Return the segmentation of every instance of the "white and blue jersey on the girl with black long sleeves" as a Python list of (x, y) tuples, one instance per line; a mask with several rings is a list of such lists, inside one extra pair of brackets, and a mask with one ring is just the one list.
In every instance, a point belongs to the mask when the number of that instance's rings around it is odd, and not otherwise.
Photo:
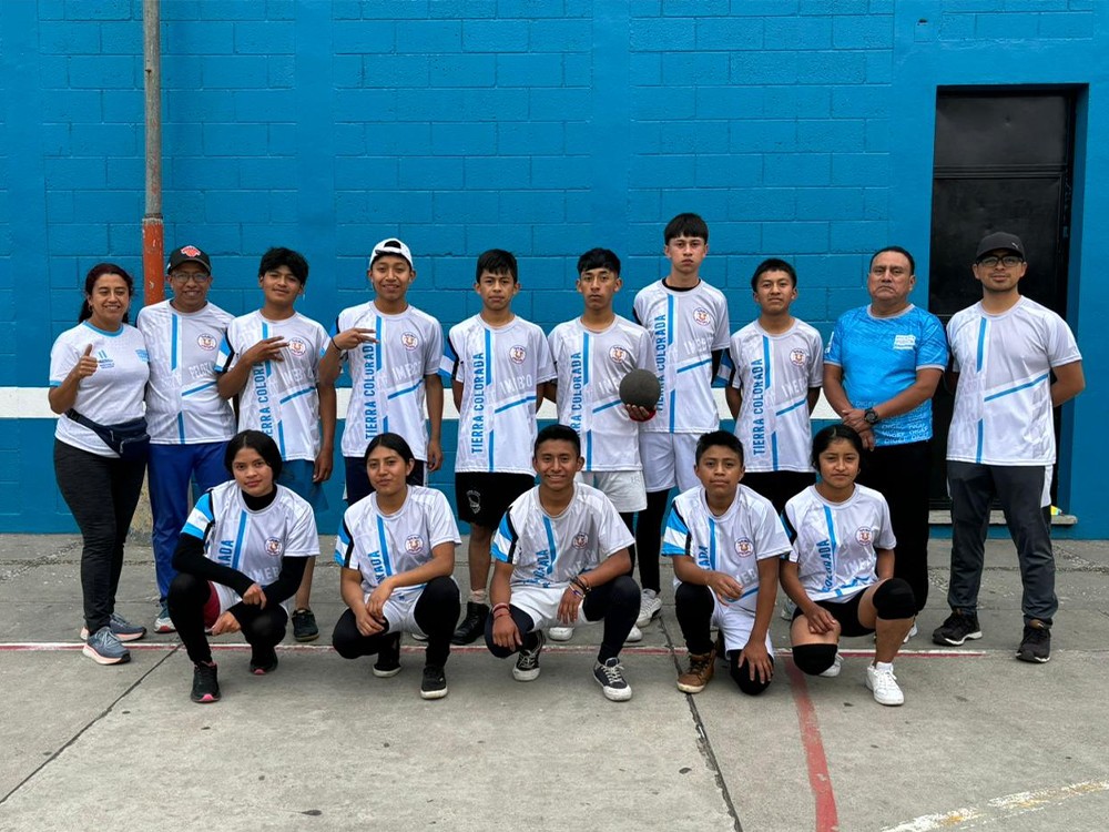
[[(254, 511), (243, 500), (237, 483), (217, 485), (196, 500), (181, 534), (203, 540), (208, 560), (237, 569), (266, 587), (281, 575), (282, 558), (314, 558), (319, 554), (312, 506), (285, 486), (275, 487), (273, 503)], [(242, 600), (231, 587), (213, 586), (221, 611)], [(283, 602), (286, 611), (292, 610), (293, 600)]]

